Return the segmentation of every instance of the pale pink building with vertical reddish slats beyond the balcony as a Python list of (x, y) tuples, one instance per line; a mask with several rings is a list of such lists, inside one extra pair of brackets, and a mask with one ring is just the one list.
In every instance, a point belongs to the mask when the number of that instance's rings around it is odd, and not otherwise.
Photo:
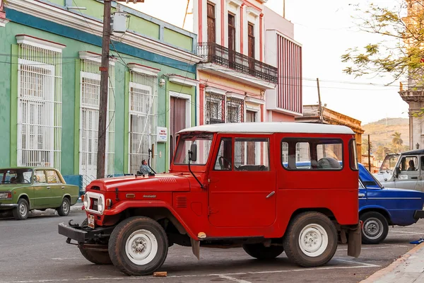
[(268, 121), (294, 122), (302, 116), (302, 46), (293, 23), (264, 7), (265, 62), (278, 68), (277, 87), (266, 91)]

